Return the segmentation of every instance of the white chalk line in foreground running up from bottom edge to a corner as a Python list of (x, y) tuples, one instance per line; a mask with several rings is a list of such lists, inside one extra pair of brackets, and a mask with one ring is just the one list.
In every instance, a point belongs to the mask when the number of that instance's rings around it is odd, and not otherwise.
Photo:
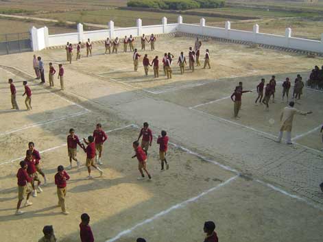
[(119, 232), (119, 234), (117, 234), (112, 239), (108, 239), (106, 242), (114, 242), (114, 241), (117, 241), (118, 239), (120, 239), (121, 237), (123, 237), (125, 234), (130, 234), (136, 228), (139, 228), (139, 227), (145, 225), (146, 223), (150, 223), (150, 222), (158, 219), (159, 217), (163, 217), (164, 215), (167, 215), (168, 213), (171, 213), (171, 211), (173, 211), (173, 210), (176, 210), (178, 208), (182, 208), (184, 206), (187, 206), (188, 204), (190, 204), (192, 202), (195, 202), (196, 200), (200, 199), (201, 197), (204, 197), (205, 195), (208, 195), (208, 193), (211, 193), (211, 192), (213, 192), (213, 191), (221, 188), (222, 186), (226, 186), (226, 184), (229, 184), (230, 182), (232, 182), (233, 180), (237, 179), (238, 177), (239, 176), (233, 176), (232, 178), (229, 178), (225, 182), (222, 182), (221, 184), (218, 184), (217, 186), (214, 186), (213, 188), (208, 189), (208, 190), (200, 193), (199, 195), (197, 195), (195, 197), (191, 197), (191, 198), (185, 200), (184, 202), (180, 202), (179, 204), (176, 204), (174, 206), (171, 206), (170, 208), (167, 208), (166, 210), (163, 210), (163, 211), (161, 211), (159, 213), (156, 213), (156, 215), (154, 215), (152, 217), (149, 217), (149, 219), (145, 219), (144, 221), (141, 221), (140, 223), (137, 223), (132, 228), (128, 228), (128, 230), (123, 230), (122, 232)]

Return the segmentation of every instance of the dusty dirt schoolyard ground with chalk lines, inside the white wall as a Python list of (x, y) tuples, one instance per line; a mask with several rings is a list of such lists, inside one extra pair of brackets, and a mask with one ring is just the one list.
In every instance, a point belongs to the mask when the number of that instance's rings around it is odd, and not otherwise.
[[(307, 80), (309, 70), (320, 58), (294, 53), (254, 49), (244, 45), (202, 40), (202, 55), (210, 49), (210, 70), (197, 67), (180, 75), (174, 64), (173, 78), (163, 69), (145, 77), (143, 66), (133, 71), (132, 53), (104, 55), (95, 44), (93, 56), (68, 64), (64, 49), (37, 52), (45, 66), (53, 62), (65, 69), (66, 90), (39, 85), (32, 80), (32, 54), (20, 53), (0, 59), (1, 145), (6, 147), (0, 162), (0, 226), (3, 241), (37, 241), (43, 226), (52, 224), (58, 241), (80, 241), (80, 215), (91, 216), (95, 241), (202, 241), (203, 223), (214, 220), (221, 241), (320, 241), (323, 234), (322, 147), (320, 91), (304, 89), (296, 102), (300, 110), (312, 110), (307, 117), (295, 117), (295, 145), (274, 142), (279, 130), (281, 82), (297, 73)], [(180, 51), (187, 55), (193, 38), (158, 38), (156, 55)], [(139, 43), (136, 42), (136, 47)], [(122, 48), (121, 48), (122, 49)], [(147, 47), (149, 49), (149, 46)], [(75, 58), (75, 56), (73, 57)], [(141, 59), (142, 60), (142, 59)], [(201, 61), (203, 64), (203, 60)], [(161, 66), (160, 66), (161, 67)], [(48, 68), (45, 69), (45, 77)], [(243, 95), (241, 119), (232, 118), (232, 90), (239, 81), (245, 90), (254, 90), (261, 77), (266, 82), (276, 75), (276, 103), (270, 111), (254, 106), (256, 93)], [(12, 77), (17, 88), (20, 111), (10, 110)], [(33, 110), (24, 110), (23, 80), (32, 88)], [(48, 83), (48, 80), (46, 78)], [(151, 182), (137, 181), (139, 175), (132, 142), (139, 127), (148, 121), (154, 134), (167, 130), (171, 144), (167, 159), (170, 169), (160, 172), (158, 146), (149, 148)], [(86, 180), (84, 166), (67, 170), (67, 208), (56, 207), (53, 176), (58, 165), (67, 167), (66, 136), (75, 128), (79, 137), (88, 136), (96, 123), (108, 132), (104, 145), (104, 176)], [(14, 215), (16, 171), (27, 143), (34, 141), (41, 152), (49, 186), (32, 198), (25, 214)], [(156, 140), (155, 140), (156, 141)], [(77, 157), (84, 165), (85, 155)], [(62, 226), (64, 225), (64, 226)], [(17, 230), (17, 228), (25, 228)], [(26, 232), (27, 231), (27, 232)]]

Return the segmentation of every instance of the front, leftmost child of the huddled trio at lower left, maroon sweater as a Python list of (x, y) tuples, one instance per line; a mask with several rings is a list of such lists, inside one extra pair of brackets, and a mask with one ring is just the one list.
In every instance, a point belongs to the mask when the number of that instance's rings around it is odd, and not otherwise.
[(30, 182), (32, 182), (32, 178), (29, 177), (27, 173), (27, 163), (25, 160), (22, 160), (19, 165), (21, 168), (18, 170), (16, 178), (18, 178), (18, 204), (16, 208), (16, 215), (22, 215), (24, 212), (19, 210), (21, 207), (21, 202), (26, 197), (25, 206), (31, 206), (32, 202), (29, 202), (29, 196), (32, 193), (32, 189), (30, 187)]

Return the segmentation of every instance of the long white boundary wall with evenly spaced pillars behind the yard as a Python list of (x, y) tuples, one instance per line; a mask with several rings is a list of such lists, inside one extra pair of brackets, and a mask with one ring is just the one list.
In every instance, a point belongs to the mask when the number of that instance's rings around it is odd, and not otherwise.
[(231, 29), (230, 22), (226, 22), (225, 27), (206, 26), (205, 19), (200, 20), (200, 25), (182, 23), (182, 16), (178, 16), (178, 23), (167, 23), (167, 18), (163, 17), (161, 25), (142, 26), (141, 19), (137, 19), (136, 27), (115, 28), (113, 21), (109, 22), (109, 29), (95, 31), (83, 31), (83, 25), (77, 25), (77, 32), (68, 34), (48, 34), (48, 28), (43, 27), (30, 29), (32, 36), (32, 47), (34, 51), (39, 51), (47, 47), (65, 45), (67, 42), (76, 44), (79, 41), (84, 43), (88, 38), (92, 41), (105, 40), (109, 38), (123, 38), (123, 36), (138, 37), (142, 34), (169, 34), (182, 32), (199, 36), (209, 36), (214, 38), (224, 38), (228, 40), (241, 40), (248, 43), (271, 45), (287, 49), (297, 49), (314, 53), (323, 53), (323, 34), (321, 41), (309, 40), (305, 38), (291, 37), (291, 28), (287, 28), (285, 36), (275, 34), (263, 34), (259, 32), (259, 25), (254, 25), (252, 31)]

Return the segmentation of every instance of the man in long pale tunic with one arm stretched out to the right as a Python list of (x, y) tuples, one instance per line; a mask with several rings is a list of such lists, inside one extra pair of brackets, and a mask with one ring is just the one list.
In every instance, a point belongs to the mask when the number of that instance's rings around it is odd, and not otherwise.
[(291, 128), (293, 126), (293, 119), (295, 114), (307, 115), (311, 114), (312, 112), (302, 112), (294, 108), (294, 101), (289, 102), (289, 106), (283, 108), (280, 114), (280, 130), (278, 135), (278, 140), (276, 142), (280, 143), (281, 139), (283, 138), (283, 132), (286, 131), (286, 139), (287, 145), (292, 145), (291, 143)]

